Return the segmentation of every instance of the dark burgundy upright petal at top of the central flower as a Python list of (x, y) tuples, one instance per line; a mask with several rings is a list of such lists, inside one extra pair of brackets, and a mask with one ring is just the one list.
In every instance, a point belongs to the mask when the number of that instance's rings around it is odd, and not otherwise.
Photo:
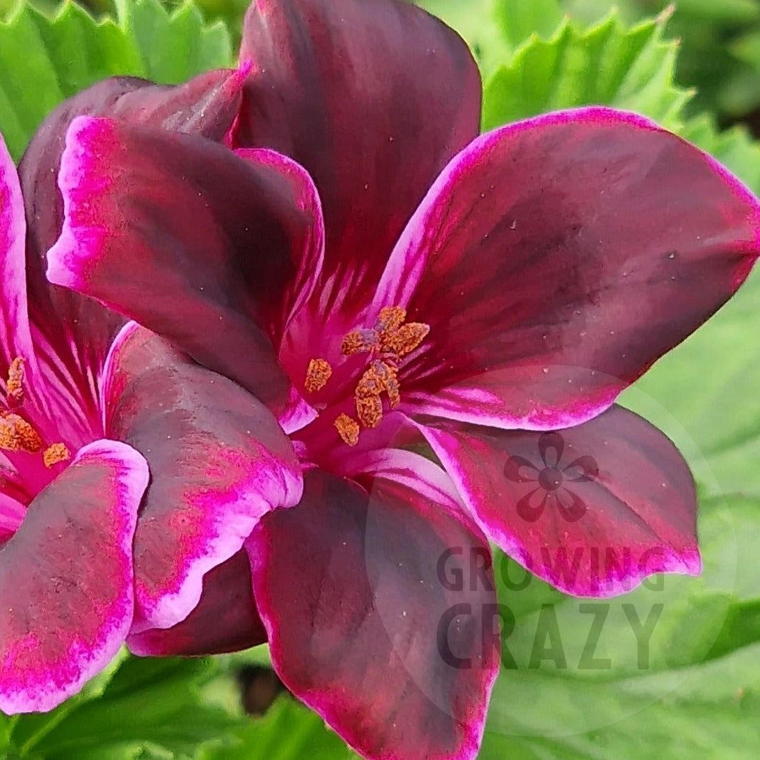
[(451, 29), (398, 0), (254, 2), (235, 142), (305, 166), (325, 207), (318, 308), (372, 297), (404, 225), (446, 162), (478, 133), (480, 75)]

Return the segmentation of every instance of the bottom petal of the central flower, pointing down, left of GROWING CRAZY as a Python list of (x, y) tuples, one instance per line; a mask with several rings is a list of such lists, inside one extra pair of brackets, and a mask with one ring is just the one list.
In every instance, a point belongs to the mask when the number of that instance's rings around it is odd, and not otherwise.
[(474, 758), (499, 667), (490, 551), (401, 480), (368, 493), (312, 470), (302, 502), (258, 525), (272, 663), (365, 757)]

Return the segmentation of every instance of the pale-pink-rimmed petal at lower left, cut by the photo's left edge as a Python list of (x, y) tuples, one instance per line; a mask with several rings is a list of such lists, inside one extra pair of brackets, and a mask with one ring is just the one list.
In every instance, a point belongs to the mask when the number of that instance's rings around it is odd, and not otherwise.
[(0, 549), (0, 710), (46, 711), (124, 643), (144, 459), (97, 441), (30, 504)]

